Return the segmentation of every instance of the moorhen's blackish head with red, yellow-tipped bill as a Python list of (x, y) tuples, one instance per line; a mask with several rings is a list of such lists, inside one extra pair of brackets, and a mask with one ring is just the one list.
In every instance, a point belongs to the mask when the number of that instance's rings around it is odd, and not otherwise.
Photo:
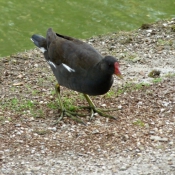
[(112, 57), (112, 56), (106, 56), (103, 59), (103, 63), (101, 65), (101, 68), (104, 71), (107, 71), (109, 74), (115, 74), (117, 75), (119, 78), (123, 79), (123, 76), (119, 70), (119, 62), (116, 58)]

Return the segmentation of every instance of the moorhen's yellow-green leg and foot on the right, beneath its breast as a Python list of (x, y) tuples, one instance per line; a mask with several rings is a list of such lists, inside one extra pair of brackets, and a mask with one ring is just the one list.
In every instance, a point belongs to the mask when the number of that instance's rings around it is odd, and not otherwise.
[(84, 97), (86, 98), (88, 104), (89, 104), (89, 107), (91, 109), (91, 116), (90, 116), (90, 119), (93, 118), (94, 116), (94, 112), (98, 113), (99, 115), (103, 116), (103, 117), (107, 117), (107, 118), (112, 118), (112, 119), (116, 119), (115, 117), (111, 116), (111, 115), (108, 115), (108, 114), (105, 114), (102, 112), (102, 109), (97, 109), (94, 105), (94, 103), (92, 102), (92, 100), (90, 99), (90, 97), (87, 95), (87, 94), (83, 94)]

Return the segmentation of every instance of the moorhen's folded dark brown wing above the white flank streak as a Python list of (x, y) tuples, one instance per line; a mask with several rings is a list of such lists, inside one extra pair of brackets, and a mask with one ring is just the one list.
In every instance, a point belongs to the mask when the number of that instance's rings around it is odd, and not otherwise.
[(51, 61), (68, 65), (73, 69), (89, 69), (103, 58), (93, 47), (78, 39), (47, 32), (48, 54)]

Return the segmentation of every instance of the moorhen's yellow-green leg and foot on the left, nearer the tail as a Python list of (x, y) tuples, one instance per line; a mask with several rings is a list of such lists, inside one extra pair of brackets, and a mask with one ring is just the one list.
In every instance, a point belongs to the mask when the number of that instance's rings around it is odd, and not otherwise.
[(75, 115), (79, 115), (79, 114), (74, 113), (74, 112), (72, 112), (72, 111), (69, 111), (69, 110), (65, 109), (65, 107), (64, 107), (64, 105), (63, 105), (63, 103), (62, 103), (62, 100), (61, 100), (61, 96), (60, 96), (60, 85), (59, 85), (59, 84), (56, 84), (56, 85), (55, 85), (55, 91), (56, 91), (56, 94), (57, 94), (57, 96), (58, 96), (58, 103), (59, 103), (59, 106), (60, 106), (60, 108), (61, 108), (61, 115), (60, 115), (59, 119), (57, 120), (57, 122), (56, 122), (55, 124), (57, 124), (60, 120), (62, 120), (63, 117), (64, 117), (64, 115), (67, 115), (68, 117), (70, 117), (70, 118), (73, 119), (74, 121), (79, 122), (79, 123), (82, 123), (82, 124), (85, 125), (85, 123), (84, 123), (81, 119), (79, 119), (79, 118), (77, 118), (77, 117), (75, 116)]

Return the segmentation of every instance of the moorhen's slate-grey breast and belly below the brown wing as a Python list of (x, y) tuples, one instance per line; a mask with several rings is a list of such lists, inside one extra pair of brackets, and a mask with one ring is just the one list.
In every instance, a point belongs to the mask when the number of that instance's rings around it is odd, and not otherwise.
[(56, 67), (53, 72), (61, 86), (88, 95), (105, 94), (113, 83), (112, 75), (94, 74), (91, 71), (75, 69), (66, 64)]

